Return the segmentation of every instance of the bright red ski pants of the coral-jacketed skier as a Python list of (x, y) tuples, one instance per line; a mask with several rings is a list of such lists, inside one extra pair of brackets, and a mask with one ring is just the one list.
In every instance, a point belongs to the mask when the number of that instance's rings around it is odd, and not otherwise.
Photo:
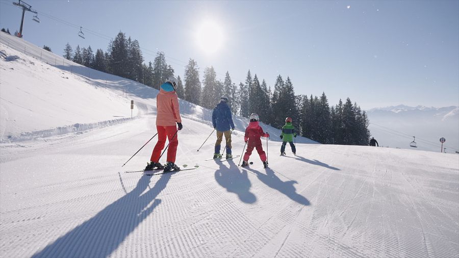
[[(151, 153), (150, 161), (159, 162), (161, 156), (161, 151), (164, 149), (164, 144), (166, 144), (166, 135), (169, 139), (169, 148), (167, 149), (167, 162), (175, 163), (175, 153), (177, 152), (177, 145), (179, 145), (179, 140), (175, 133), (177, 132), (177, 127), (175, 125), (170, 126), (161, 126), (157, 125), (156, 130), (158, 130), (158, 142), (156, 143), (153, 153)], [(175, 135), (175, 137), (174, 137)], [(174, 137), (174, 139), (172, 139)]]

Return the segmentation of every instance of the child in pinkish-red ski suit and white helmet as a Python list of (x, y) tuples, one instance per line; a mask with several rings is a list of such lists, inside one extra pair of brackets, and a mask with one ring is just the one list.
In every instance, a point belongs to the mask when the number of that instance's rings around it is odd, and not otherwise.
[(266, 153), (263, 150), (263, 145), (260, 137), (269, 137), (268, 133), (263, 132), (262, 127), (258, 123), (259, 117), (257, 114), (253, 113), (250, 115), (250, 123), (245, 129), (244, 141), (247, 143), (247, 150), (244, 154), (244, 161), (242, 166), (248, 165), (248, 159), (250, 154), (252, 154), (253, 148), (257, 148), (257, 152), (260, 155), (260, 159), (263, 161), (263, 165), (266, 167), (268, 165)]

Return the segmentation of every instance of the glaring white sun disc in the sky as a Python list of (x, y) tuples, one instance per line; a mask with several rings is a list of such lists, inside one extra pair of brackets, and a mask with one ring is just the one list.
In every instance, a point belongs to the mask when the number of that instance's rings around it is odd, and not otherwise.
[(196, 39), (199, 47), (207, 54), (218, 51), (223, 44), (223, 33), (214, 21), (202, 22), (197, 30)]

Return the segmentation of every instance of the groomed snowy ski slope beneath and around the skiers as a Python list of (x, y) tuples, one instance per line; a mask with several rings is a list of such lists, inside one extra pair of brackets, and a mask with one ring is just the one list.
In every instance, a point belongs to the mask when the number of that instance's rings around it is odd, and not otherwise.
[[(85, 79), (1, 36), (1, 257), (459, 256), (456, 154), (298, 137), (298, 156), (287, 147), (280, 157), (279, 131), (262, 124), (270, 166), (254, 152), (241, 168), (205, 161), (215, 135), (196, 151), (211, 111), (181, 101), (177, 163), (198, 169), (124, 173), (149, 160), (156, 139), (121, 167), (156, 133), (157, 91), (109, 74)], [(235, 122), (241, 154), (248, 121)]]

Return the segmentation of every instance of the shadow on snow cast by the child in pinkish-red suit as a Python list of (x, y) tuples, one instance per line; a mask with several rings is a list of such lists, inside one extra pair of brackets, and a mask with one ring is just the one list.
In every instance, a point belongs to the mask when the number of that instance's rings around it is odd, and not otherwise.
[(260, 179), (261, 182), (265, 183), (265, 185), (271, 187), (272, 189), (276, 189), (277, 191), (287, 195), (293, 201), (296, 201), (302, 205), (311, 204), (306, 197), (296, 193), (296, 189), (293, 186), (293, 184), (298, 184), (298, 182), (296, 182), (295, 180), (284, 182), (279, 177), (277, 177), (274, 174), (274, 171), (270, 168), (264, 168), (266, 171), (266, 174), (263, 174), (260, 171), (257, 171), (257, 170), (254, 170), (248, 167), (244, 167), (244, 169), (247, 169), (255, 173), (258, 179)]

